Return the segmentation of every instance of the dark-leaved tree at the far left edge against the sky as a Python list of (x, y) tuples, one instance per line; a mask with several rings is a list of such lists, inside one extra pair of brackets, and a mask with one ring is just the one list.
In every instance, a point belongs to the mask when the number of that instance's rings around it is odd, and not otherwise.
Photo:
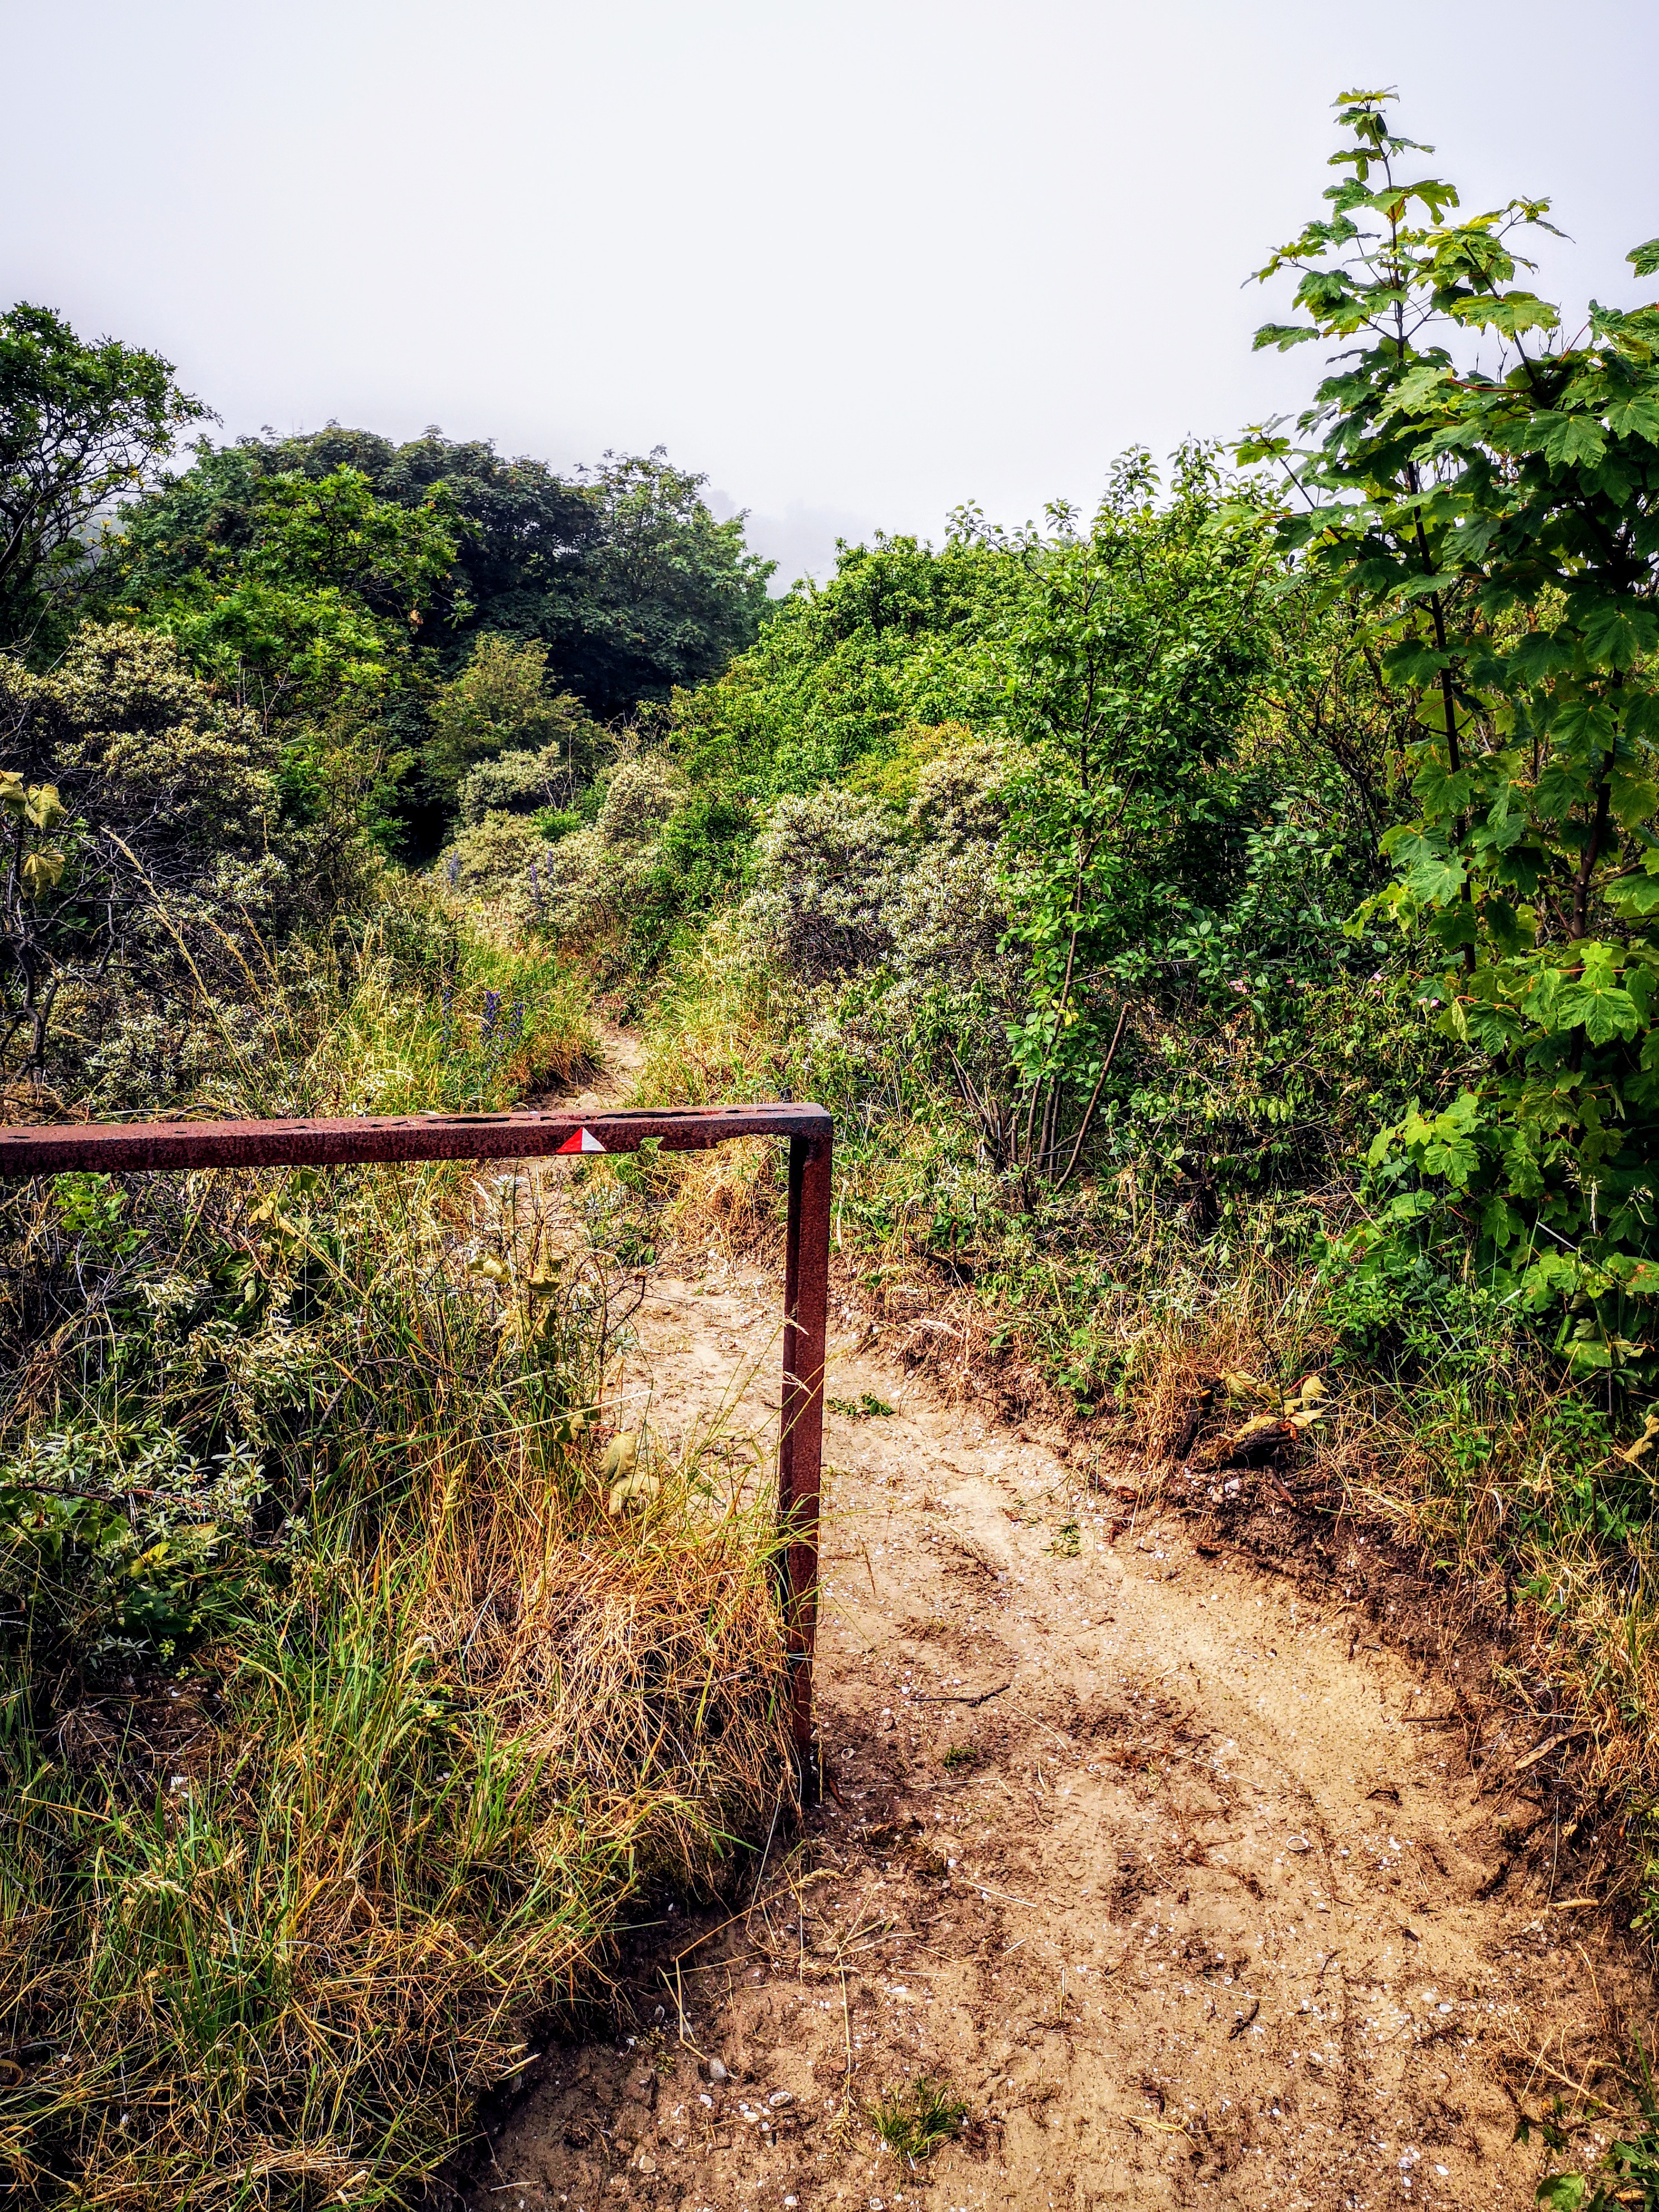
[(206, 414), (159, 354), (86, 345), (27, 301), (0, 316), (0, 646), (38, 635), (86, 568), (97, 515), (144, 489)]

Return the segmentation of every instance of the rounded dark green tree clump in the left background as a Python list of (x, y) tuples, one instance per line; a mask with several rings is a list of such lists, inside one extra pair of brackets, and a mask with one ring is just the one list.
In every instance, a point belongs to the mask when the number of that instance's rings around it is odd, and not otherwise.
[[(661, 706), (754, 639), (770, 564), (701, 482), (661, 451), (562, 478), (438, 431), (201, 440), (122, 513), (88, 604), (283, 717), (296, 801), (356, 781), (380, 843), (420, 854), (469, 768)], [(595, 761), (588, 732), (566, 799)]]

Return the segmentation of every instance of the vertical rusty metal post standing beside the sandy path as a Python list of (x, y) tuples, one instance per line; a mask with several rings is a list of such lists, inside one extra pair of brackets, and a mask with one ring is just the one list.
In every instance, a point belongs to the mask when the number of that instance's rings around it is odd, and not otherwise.
[(783, 1427), (779, 1433), (779, 1571), (801, 1803), (818, 1801), (812, 1741), (812, 1646), (818, 1628), (818, 1475), (830, 1323), (830, 1170), (834, 1133), (790, 1137), (790, 1243), (783, 1263)]

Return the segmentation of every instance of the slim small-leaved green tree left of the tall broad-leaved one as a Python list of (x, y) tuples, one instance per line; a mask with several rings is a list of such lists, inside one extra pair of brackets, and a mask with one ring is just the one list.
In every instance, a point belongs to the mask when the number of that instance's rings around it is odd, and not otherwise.
[[(1239, 956), (1217, 929), (1245, 874), (1241, 730), (1267, 659), (1267, 549), (1245, 513), (1219, 526), (1212, 456), (1117, 462), (1086, 531), (1055, 509), (1037, 586), (998, 648), (1018, 741), (1006, 900), (1026, 962), (1009, 1044), (1020, 1110), (1006, 1150), (1071, 1177), (1113, 1068), (1128, 993)], [(1252, 803), (1254, 799), (1254, 803)]]

